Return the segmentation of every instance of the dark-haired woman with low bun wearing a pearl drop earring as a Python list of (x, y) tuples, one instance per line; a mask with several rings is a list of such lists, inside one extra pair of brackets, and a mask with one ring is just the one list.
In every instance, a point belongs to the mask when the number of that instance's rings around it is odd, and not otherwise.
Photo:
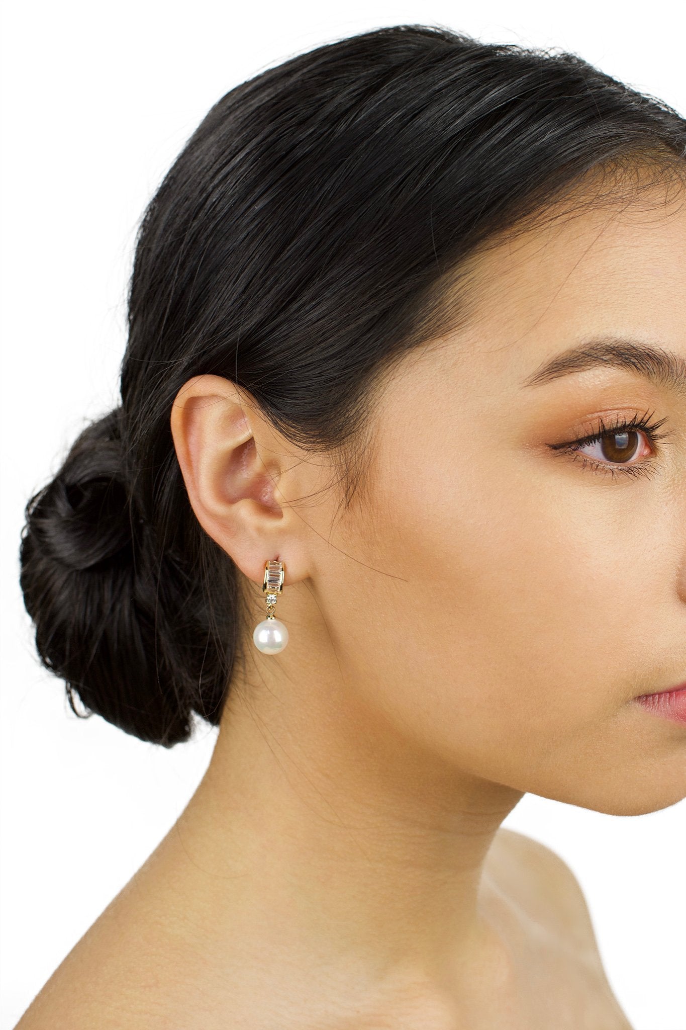
[(210, 110), (21, 558), (72, 707), (219, 733), (22, 1030), (628, 1027), (501, 823), (686, 795), (685, 152), (575, 55), (423, 26)]

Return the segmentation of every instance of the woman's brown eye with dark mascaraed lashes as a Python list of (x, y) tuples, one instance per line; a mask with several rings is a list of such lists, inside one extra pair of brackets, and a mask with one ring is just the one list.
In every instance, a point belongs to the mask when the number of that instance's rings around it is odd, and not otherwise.
[(652, 456), (646, 456), (646, 441), (652, 449), (658, 440), (664, 440), (670, 433), (657, 433), (666, 419), (650, 422), (651, 415), (636, 415), (631, 419), (620, 417), (615, 424), (606, 425), (600, 419), (598, 433), (579, 437), (564, 444), (551, 444), (552, 450), (571, 453), (582, 461), (583, 468), (590, 468), (603, 474), (649, 475), (653, 465)]

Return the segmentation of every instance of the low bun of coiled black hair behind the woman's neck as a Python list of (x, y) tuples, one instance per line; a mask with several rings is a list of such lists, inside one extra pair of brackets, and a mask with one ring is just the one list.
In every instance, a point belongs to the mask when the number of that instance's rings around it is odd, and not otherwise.
[(218, 720), (222, 655), (184, 554), (159, 547), (132, 493), (122, 438), (116, 408), (83, 430), (31, 497), (20, 582), (39, 658), (65, 680), (74, 714), (172, 747), (190, 736), (193, 710)]

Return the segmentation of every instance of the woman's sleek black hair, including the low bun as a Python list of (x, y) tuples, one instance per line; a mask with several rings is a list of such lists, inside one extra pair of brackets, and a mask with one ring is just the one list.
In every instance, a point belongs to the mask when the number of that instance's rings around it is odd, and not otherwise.
[(467, 259), (584, 182), (600, 204), (639, 170), (681, 181), (685, 158), (683, 117), (577, 55), (437, 26), (319, 46), (217, 101), (139, 227), (121, 404), (26, 507), (26, 609), (72, 710), (76, 691), (171, 747), (192, 713), (218, 724), (250, 636), (176, 457), (186, 380), (234, 381), (287, 440), (329, 452), (348, 507), (375, 388), (466, 317)]

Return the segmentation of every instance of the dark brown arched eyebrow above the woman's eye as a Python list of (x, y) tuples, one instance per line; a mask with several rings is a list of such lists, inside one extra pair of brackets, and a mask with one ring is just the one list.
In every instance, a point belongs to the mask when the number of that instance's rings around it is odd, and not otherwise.
[(686, 358), (671, 350), (639, 340), (605, 336), (585, 340), (555, 354), (528, 376), (520, 385), (540, 386), (574, 372), (610, 366), (638, 373), (658, 386), (686, 394)]

